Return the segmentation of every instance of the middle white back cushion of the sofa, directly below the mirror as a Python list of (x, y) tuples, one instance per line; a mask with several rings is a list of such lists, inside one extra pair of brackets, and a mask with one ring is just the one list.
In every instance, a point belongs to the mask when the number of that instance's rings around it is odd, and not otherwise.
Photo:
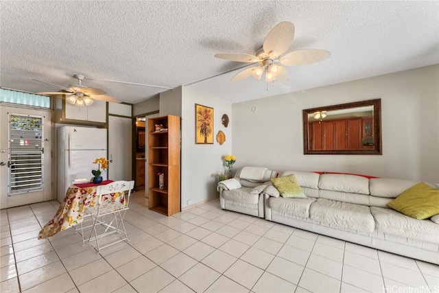
[(352, 194), (369, 194), (369, 179), (356, 175), (322, 174), (318, 181), (318, 187)]

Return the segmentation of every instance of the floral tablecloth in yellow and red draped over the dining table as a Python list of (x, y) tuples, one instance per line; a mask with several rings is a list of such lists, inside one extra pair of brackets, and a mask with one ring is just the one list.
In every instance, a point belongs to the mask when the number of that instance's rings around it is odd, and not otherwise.
[[(96, 194), (97, 185), (92, 187), (78, 187), (72, 185), (67, 189), (66, 197), (61, 202), (60, 208), (52, 220), (50, 220), (38, 234), (38, 239), (51, 237), (56, 233), (80, 224), (82, 215), (87, 207), (94, 207), (99, 196)], [(106, 194), (102, 196), (102, 201), (120, 200), (125, 202), (124, 194)]]

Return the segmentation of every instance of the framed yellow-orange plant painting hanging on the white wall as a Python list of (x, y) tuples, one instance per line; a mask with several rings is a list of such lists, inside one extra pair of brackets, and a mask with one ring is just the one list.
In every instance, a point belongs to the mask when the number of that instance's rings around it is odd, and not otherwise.
[(213, 144), (213, 108), (195, 104), (195, 143)]

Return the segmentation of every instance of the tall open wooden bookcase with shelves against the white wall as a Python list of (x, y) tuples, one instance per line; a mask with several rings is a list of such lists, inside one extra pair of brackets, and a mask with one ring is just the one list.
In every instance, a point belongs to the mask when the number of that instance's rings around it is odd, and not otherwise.
[[(162, 125), (166, 130), (156, 130)], [(180, 211), (180, 117), (168, 115), (148, 119), (148, 207), (173, 215)], [(163, 174), (163, 188), (158, 174)]]

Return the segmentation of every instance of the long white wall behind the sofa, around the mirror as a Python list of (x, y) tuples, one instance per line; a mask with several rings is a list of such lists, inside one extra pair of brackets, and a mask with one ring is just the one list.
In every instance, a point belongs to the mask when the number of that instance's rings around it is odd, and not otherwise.
[[(439, 65), (433, 65), (233, 104), (235, 166), (351, 172), (438, 183), (438, 82)], [(376, 98), (381, 98), (381, 156), (303, 154), (303, 109)], [(254, 106), (256, 112), (251, 111)]]

